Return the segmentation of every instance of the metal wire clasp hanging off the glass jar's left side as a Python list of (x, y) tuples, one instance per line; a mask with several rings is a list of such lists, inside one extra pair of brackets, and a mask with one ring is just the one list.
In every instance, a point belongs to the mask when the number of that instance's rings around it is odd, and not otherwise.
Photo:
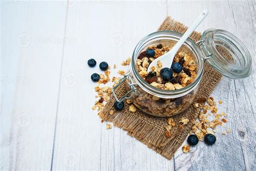
[[(116, 99), (117, 102), (122, 102), (126, 99), (130, 99), (136, 92), (137, 92), (137, 88), (135, 87), (135, 85), (138, 85), (137, 83), (133, 83), (131, 77), (130, 77), (130, 73), (125, 74), (125, 76), (119, 80), (118, 84), (116, 86), (113, 87), (112, 89), (112, 93), (114, 96), (114, 99)], [(116, 93), (114, 93), (114, 91), (116, 90), (116, 88), (122, 84), (125, 80), (129, 80), (129, 82), (127, 83), (127, 85), (131, 88), (131, 90), (129, 92), (127, 92), (126, 94), (123, 95), (123, 97), (120, 98), (120, 100), (117, 98)], [(131, 93), (131, 94), (130, 94)], [(128, 96), (130, 94), (130, 96)]]

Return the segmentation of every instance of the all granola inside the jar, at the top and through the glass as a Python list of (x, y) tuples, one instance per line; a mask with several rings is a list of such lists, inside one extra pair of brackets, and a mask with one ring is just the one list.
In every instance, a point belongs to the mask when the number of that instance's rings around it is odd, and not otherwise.
[[(150, 63), (171, 48), (167, 45), (159, 44), (157, 46), (149, 46), (147, 49), (154, 50), (154, 57), (147, 57), (146, 51), (143, 51), (136, 60), (136, 66), (140, 77), (151, 86), (161, 90), (173, 91), (184, 88), (197, 78), (196, 62), (190, 54), (183, 51), (177, 52), (173, 60), (173, 63), (180, 63), (180, 65), (183, 66), (183, 70), (180, 73), (173, 72), (173, 77), (170, 81), (164, 81), (160, 77), (160, 71), (163, 67), (160, 61), (158, 61), (157, 66), (151, 67), (151, 71), (148, 72), (147, 68)], [(197, 90), (198, 87), (183, 97), (163, 99), (156, 95), (151, 95), (142, 90), (142, 88), (137, 87), (137, 92), (132, 97), (132, 102), (145, 113), (155, 115), (156, 117), (170, 117), (185, 111), (192, 104), (196, 97)]]

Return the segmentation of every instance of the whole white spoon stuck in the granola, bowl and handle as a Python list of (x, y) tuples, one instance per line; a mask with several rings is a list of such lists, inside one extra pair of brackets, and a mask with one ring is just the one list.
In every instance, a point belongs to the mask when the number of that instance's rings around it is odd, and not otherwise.
[(204, 9), (197, 20), (190, 26), (190, 28), (187, 29), (187, 31), (184, 33), (184, 35), (179, 39), (179, 41), (172, 47), (172, 49), (160, 56), (159, 58), (152, 61), (152, 63), (147, 68), (147, 71), (151, 71), (152, 66), (157, 66), (157, 61), (160, 60), (163, 68), (168, 67), (170, 68), (172, 65), (173, 58), (175, 54), (178, 52), (179, 48), (183, 45), (183, 43), (186, 41), (188, 37), (190, 37), (191, 33), (197, 28), (197, 26), (205, 19), (205, 17), (208, 14), (208, 10)]

